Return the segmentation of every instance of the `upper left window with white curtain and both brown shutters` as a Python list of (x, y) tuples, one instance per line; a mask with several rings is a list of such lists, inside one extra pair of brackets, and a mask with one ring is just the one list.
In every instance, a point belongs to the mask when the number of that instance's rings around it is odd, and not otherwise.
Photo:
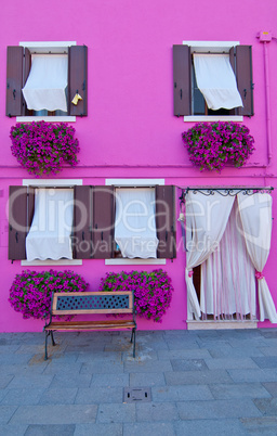
[(70, 121), (88, 115), (87, 46), (69, 41), (8, 47), (6, 115), (26, 120), (65, 116)]

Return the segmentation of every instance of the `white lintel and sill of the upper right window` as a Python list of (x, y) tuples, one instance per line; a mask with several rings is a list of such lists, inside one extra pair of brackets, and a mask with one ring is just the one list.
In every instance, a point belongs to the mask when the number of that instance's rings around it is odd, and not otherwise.
[[(213, 52), (226, 53), (232, 49), (232, 47), (239, 46), (239, 41), (183, 41), (183, 44), (189, 46), (192, 52)], [(185, 115), (185, 123), (199, 123), (199, 121), (243, 121), (242, 115)]]

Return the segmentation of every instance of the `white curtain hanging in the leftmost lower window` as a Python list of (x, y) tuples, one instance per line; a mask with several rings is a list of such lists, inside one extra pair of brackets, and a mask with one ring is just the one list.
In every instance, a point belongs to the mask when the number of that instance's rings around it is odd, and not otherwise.
[(72, 259), (72, 189), (36, 189), (35, 213), (26, 238), (27, 260)]

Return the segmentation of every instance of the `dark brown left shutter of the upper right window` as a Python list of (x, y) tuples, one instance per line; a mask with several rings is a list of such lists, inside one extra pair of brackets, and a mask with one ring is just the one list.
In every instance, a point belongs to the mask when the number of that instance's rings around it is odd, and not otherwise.
[(174, 115), (192, 114), (190, 47), (173, 46)]

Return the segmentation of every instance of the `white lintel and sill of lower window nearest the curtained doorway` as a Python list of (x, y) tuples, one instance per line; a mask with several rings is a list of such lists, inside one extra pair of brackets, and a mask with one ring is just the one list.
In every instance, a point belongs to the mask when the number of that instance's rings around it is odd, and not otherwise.
[[(164, 179), (106, 179), (107, 187), (116, 188), (137, 188), (137, 187), (155, 187), (156, 184), (164, 184)], [(105, 259), (105, 265), (166, 265), (167, 259)]]

